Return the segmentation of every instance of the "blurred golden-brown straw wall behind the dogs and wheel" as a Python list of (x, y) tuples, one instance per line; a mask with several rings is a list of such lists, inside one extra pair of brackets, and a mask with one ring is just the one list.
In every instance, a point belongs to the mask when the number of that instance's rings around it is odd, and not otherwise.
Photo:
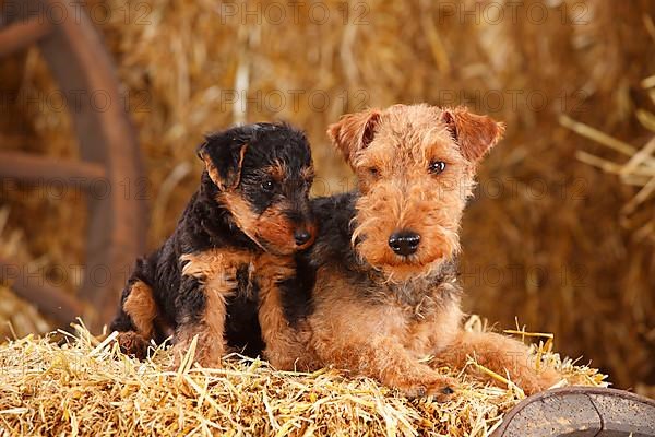
[[(355, 24), (352, 15), (348, 25), (335, 12), (343, 8), (337, 1), (322, 2), (332, 11), (324, 24), (308, 20), (308, 5), (300, 8), (297, 25), (253, 19), (242, 24), (234, 17), (222, 24), (221, 3), (210, 0), (102, 3), (114, 13), (104, 19), (96, 10), (98, 28), (118, 64), (145, 155), (150, 247), (170, 233), (196, 186), (201, 167), (194, 147), (203, 132), (241, 120), (301, 126), (313, 144), (315, 191), (326, 193), (353, 184), (324, 134), (342, 113), (465, 98), (509, 127), (483, 166), (477, 199), (465, 215), (466, 310), (502, 327), (514, 326), (517, 317), (533, 329), (555, 332), (558, 351), (593, 359), (618, 387), (654, 386), (655, 233), (635, 229), (653, 223), (655, 202), (623, 216), (621, 205), (636, 189), (577, 161), (579, 150), (608, 152), (561, 127), (558, 116), (565, 113), (627, 142), (645, 143), (652, 132), (635, 120), (634, 109), (654, 106), (641, 81), (655, 74), (655, 33), (645, 24), (655, 17), (655, 5), (647, 0), (548, 1), (548, 20), (531, 23), (524, 16), (533, 3), (517, 10), (516, 23), (509, 17), (476, 23), (472, 16), (440, 17), (439, 5), (429, 0), (372, 1), (367, 23)], [(572, 23), (579, 3), (586, 8), (586, 23)], [(145, 10), (136, 9), (143, 4)], [(357, 4), (350, 3), (352, 11), (359, 12)], [(300, 98), (297, 108), (287, 102), (279, 110), (276, 103), (251, 104), (245, 113), (222, 107), (219, 91), (236, 88), (245, 71), (251, 95), (279, 90), (288, 98), (289, 90), (322, 91), (330, 105), (312, 108)], [(29, 103), (55, 90), (35, 50), (3, 60), (0, 87), (33, 97), (4, 103), (3, 149), (25, 147), (12, 139), (26, 134), (31, 150), (75, 155), (66, 113)], [(457, 102), (445, 99), (444, 90)], [(536, 110), (521, 98), (513, 105), (509, 93), (515, 90), (545, 95), (548, 105)], [(497, 107), (498, 91), (504, 104)], [(44, 190), (2, 185), (8, 220), (1, 250), (45, 271), (80, 264), (81, 194), (58, 199)], [(0, 317), (13, 321), (17, 334), (43, 330), (25, 303), (9, 297), (5, 288), (0, 293)]]

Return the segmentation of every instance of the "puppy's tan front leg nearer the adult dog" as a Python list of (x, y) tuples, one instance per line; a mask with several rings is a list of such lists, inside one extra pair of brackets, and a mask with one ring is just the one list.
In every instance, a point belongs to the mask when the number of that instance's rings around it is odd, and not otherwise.
[(299, 306), (306, 299), (294, 267), (289, 257), (269, 253), (262, 255), (255, 265), (260, 285), (258, 317), (266, 344), (264, 356), (277, 369), (312, 370), (318, 365), (309, 351), (309, 326), (306, 320), (288, 320), (284, 310), (283, 287), (294, 294), (288, 298)]

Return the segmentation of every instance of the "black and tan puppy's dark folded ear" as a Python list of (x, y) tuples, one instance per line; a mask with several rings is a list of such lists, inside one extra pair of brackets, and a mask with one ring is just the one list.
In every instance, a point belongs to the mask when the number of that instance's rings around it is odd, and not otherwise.
[(231, 189), (241, 180), (241, 167), (248, 143), (231, 130), (213, 133), (198, 147), (200, 157), (212, 181), (222, 190)]

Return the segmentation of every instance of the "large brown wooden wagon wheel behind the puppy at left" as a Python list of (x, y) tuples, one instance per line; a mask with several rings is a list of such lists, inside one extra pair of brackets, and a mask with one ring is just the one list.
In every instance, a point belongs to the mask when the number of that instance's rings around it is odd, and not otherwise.
[[(85, 188), (104, 182), (108, 192), (86, 196), (86, 263), (75, 296), (52, 286), (32, 285), (10, 260), (0, 260), (0, 268), (19, 271), (13, 290), (44, 315), (61, 324), (84, 315), (90, 327), (97, 329), (114, 314), (126, 269), (144, 247), (144, 202), (133, 189), (124, 189), (144, 181), (136, 135), (120, 101), (110, 57), (79, 4), (72, 0), (25, 0), (1, 11), (0, 57), (38, 46), (68, 107), (74, 103), (75, 110), (70, 113), (82, 161), (0, 151), (0, 177), (25, 182), (63, 180)], [(102, 93), (109, 104), (98, 110), (91, 99), (79, 98), (80, 91), (86, 95)], [(98, 272), (104, 276), (98, 277)]]

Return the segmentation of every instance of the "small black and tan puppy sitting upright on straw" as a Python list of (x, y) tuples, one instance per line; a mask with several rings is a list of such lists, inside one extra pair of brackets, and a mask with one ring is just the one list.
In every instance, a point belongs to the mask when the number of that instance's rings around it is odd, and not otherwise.
[[(275, 344), (284, 333), (278, 305), (259, 290), (275, 290), (293, 253), (313, 241), (313, 169), (305, 134), (286, 125), (211, 134), (198, 155), (205, 164), (200, 189), (174, 234), (138, 261), (110, 328), (138, 356), (172, 331), (179, 359), (198, 335), (196, 359), (216, 367), (228, 346), (255, 355), (262, 335)], [(275, 338), (260, 331), (258, 306)]]

